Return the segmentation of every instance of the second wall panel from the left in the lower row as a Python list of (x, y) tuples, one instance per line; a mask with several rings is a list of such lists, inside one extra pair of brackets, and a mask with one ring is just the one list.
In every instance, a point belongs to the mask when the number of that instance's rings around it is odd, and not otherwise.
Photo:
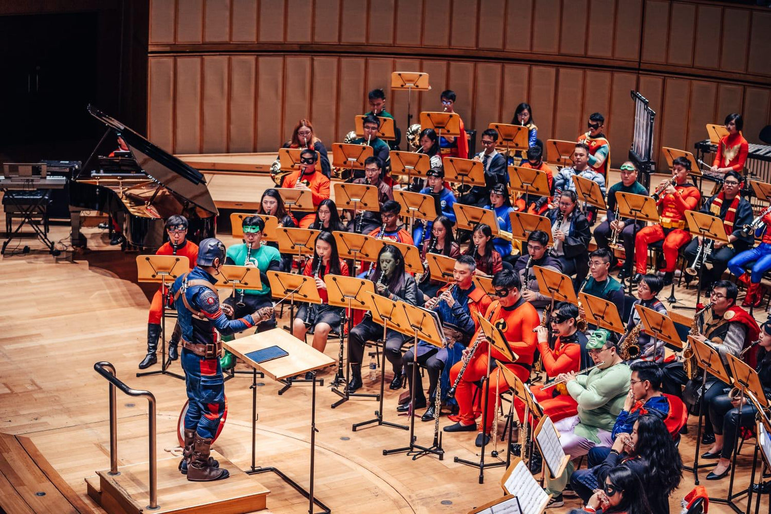
[(174, 152), (200, 152), (200, 57), (177, 59), (174, 96)]

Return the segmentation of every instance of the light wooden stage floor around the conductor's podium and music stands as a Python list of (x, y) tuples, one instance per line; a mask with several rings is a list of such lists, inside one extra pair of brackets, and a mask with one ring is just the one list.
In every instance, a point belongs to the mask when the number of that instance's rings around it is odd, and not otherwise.
[[(66, 237), (68, 230), (53, 226), (52, 239)], [(148, 297), (154, 288), (136, 284), (134, 254), (109, 247), (106, 233), (95, 227), (84, 228), (84, 233), (90, 250), (76, 254), (72, 261), (36, 253), (41, 245), (34, 239), (28, 243), (32, 253), (0, 259), (0, 288), (5, 295), (5, 312), (0, 317), (0, 432), (31, 438), (79, 496), (101, 512), (86, 496), (83, 481), (109, 467), (107, 384), (93, 371), (94, 363), (112, 362), (128, 385), (156, 395), (159, 459), (177, 447), (174, 431), (186, 397), (183, 382), (175, 378), (134, 375), (145, 353)], [(686, 304), (693, 304), (692, 291), (680, 288), (676, 293)], [(763, 321), (766, 314), (761, 311), (758, 316)], [(338, 345), (328, 344), (327, 353), (336, 358)], [(171, 369), (180, 372), (179, 361)], [(443, 461), (384, 456), (383, 449), (406, 445), (408, 432), (377, 426), (352, 432), (352, 423), (373, 417), (376, 403), (352, 400), (333, 410), (329, 405), (338, 396), (328, 388), (332, 370), (321, 376), (325, 385), (318, 388), (315, 493), (332, 512), (358, 513), (362, 507), (369, 512), (467, 512), (501, 495), (503, 468), (487, 469), (480, 485), (477, 469), (453, 463), (456, 455), (475, 458), (475, 433), (445, 434)], [(251, 460), (250, 384), (251, 378), (245, 376), (227, 382), (227, 423), (215, 444), (241, 469), (247, 469)], [(374, 392), (377, 384), (368, 383), (365, 391)], [(282, 396), (277, 395), (278, 388), (267, 378), (259, 380), (257, 462), (277, 466), (307, 487), (311, 388), (295, 385)], [(396, 415), (397, 396), (386, 388), (385, 419), (406, 423), (405, 417)], [(119, 463), (145, 461), (146, 405), (120, 392), (117, 399)], [(440, 421), (442, 426), (449, 423), (446, 418)], [(686, 462), (693, 460), (694, 421), (691, 418), (690, 435), (680, 445)], [(416, 428), (419, 444), (430, 444), (433, 423), (418, 420)], [(499, 448), (503, 451), (505, 445), (499, 443)], [(752, 442), (739, 456), (739, 489), (749, 482), (751, 457)], [(701, 472), (702, 485), (711, 496), (724, 496), (728, 480), (706, 482), (707, 472)], [(271, 489), (271, 512), (307, 512), (306, 500), (275, 475), (261, 475), (260, 481)], [(680, 499), (692, 486), (692, 474), (686, 472), (672, 496), (672, 512), (679, 512)], [(744, 502), (738, 503), (743, 509)], [(578, 504), (569, 500), (565, 507), (550, 512), (567, 512)], [(710, 512), (731, 511), (711, 505)]]

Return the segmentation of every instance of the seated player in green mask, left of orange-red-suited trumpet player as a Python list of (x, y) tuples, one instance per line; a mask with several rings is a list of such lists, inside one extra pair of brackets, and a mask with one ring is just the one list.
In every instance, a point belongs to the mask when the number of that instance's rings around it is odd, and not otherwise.
[[(621, 182), (614, 183), (608, 190), (608, 219), (599, 224), (594, 229), (594, 240), (600, 248), (608, 248), (613, 251), (609, 243), (615, 230), (621, 230), (618, 239), (624, 244), (624, 267), (618, 274), (618, 278), (631, 277), (631, 264), (635, 255), (635, 233), (642, 227), (645, 227), (645, 221), (638, 221), (635, 227), (635, 220), (632, 218), (616, 218), (616, 193), (632, 193), (648, 197), (648, 190), (637, 181), (637, 166), (631, 161), (621, 164)], [(615, 263), (614, 258), (614, 263)]]

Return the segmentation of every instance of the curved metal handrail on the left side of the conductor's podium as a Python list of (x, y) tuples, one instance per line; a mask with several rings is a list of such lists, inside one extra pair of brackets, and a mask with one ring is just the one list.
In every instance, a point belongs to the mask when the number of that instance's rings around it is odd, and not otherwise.
[(157, 465), (156, 465), (156, 401), (155, 396), (150, 391), (143, 391), (141, 389), (133, 389), (128, 385), (120, 381), (115, 375), (115, 366), (107, 361), (97, 362), (94, 365), (94, 369), (99, 375), (109, 381), (109, 474), (118, 474), (118, 437), (117, 437), (117, 416), (116, 416), (116, 401), (115, 401), (115, 388), (119, 388), (121, 391), (129, 396), (141, 396), (147, 398), (147, 421), (150, 432), (150, 459), (148, 466), (150, 468), (150, 505), (148, 509), (158, 508), (158, 492), (157, 492)]

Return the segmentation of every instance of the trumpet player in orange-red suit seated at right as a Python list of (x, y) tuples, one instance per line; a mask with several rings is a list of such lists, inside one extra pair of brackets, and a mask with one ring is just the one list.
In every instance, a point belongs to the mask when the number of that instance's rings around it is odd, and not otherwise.
[(661, 214), (661, 223), (648, 225), (638, 230), (635, 237), (635, 267), (637, 273), (632, 281), (637, 284), (645, 274), (645, 264), (648, 261), (648, 245), (656, 241), (664, 240), (664, 259), (666, 260), (664, 285), (672, 284), (677, 266), (677, 254), (680, 247), (688, 244), (691, 234), (685, 230), (685, 211), (695, 210), (699, 205), (702, 194), (699, 189), (688, 183), (688, 174), (691, 172), (691, 161), (685, 157), (677, 157), (672, 161), (672, 179), (661, 183), (659, 189), (666, 186), (657, 200), (658, 212)]

